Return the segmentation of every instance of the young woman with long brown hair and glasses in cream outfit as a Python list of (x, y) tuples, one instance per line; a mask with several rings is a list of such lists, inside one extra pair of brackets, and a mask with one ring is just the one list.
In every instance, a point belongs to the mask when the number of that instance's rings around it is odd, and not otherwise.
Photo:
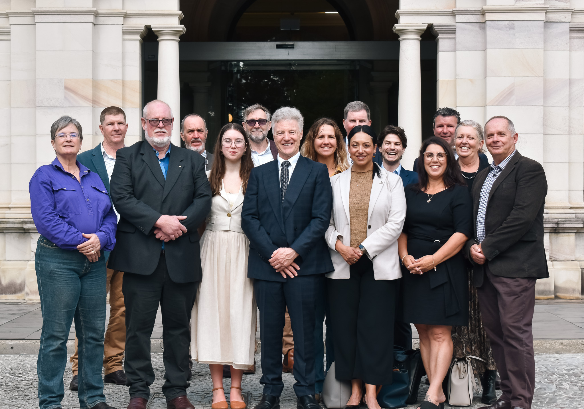
[(207, 171), (213, 198), (201, 237), (203, 279), (191, 314), (191, 349), (193, 359), (209, 364), (211, 408), (228, 408), (223, 365), (230, 365), (231, 409), (244, 409), (241, 379), (253, 365), (256, 303), (253, 280), (247, 278), (249, 241), (241, 228), (241, 209), (253, 168), (243, 127), (225, 125), (214, 153), (213, 166)]

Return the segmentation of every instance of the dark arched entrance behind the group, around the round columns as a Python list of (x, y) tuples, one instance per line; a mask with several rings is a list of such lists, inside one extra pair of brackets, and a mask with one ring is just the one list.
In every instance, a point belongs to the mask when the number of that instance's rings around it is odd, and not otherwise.
[[(207, 147), (223, 124), (241, 122), (246, 106), (293, 105), (305, 130), (362, 100), (376, 131), (397, 124), (399, 41), (392, 32), (397, 1), (206, 0), (182, 3), (181, 109), (203, 115)], [(422, 37), (422, 120), (430, 134), (436, 109), (436, 44)], [(144, 100), (156, 96), (156, 36), (144, 39)]]

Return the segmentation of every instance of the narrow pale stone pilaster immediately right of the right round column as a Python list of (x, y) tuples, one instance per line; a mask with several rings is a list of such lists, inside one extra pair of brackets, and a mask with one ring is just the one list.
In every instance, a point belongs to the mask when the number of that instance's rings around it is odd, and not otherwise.
[(436, 106), (456, 107), (456, 24), (434, 23), (436, 36)]

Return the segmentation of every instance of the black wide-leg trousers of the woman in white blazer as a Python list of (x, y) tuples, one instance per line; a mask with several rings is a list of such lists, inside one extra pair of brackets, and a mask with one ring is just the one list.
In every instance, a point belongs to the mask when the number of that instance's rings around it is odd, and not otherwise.
[(391, 384), (399, 280), (376, 281), (373, 262), (364, 256), (350, 266), (349, 279), (326, 281), (336, 379)]

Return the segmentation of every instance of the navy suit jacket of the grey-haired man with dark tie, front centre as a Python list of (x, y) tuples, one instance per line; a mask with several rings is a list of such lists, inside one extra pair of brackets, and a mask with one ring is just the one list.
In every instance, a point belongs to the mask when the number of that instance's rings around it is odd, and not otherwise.
[(280, 247), (299, 254), (298, 275), (333, 271), (324, 239), (332, 208), (326, 166), (300, 156), (283, 205), (280, 197), (278, 161), (253, 168), (241, 213), (241, 227), (249, 239), (248, 277), (286, 281), (268, 261)]

